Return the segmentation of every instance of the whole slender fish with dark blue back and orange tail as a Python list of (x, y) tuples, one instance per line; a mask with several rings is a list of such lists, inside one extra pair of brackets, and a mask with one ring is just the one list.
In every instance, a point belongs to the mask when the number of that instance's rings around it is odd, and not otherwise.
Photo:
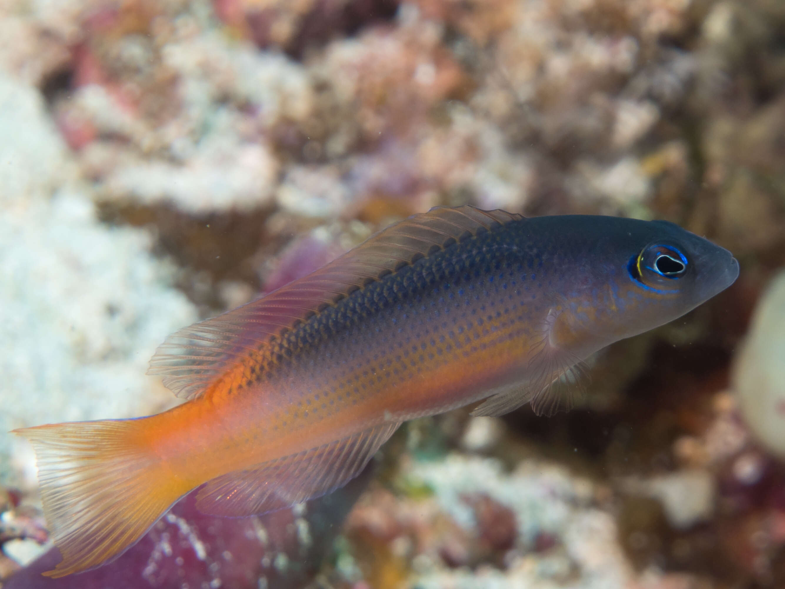
[(148, 374), (185, 400), (135, 419), (14, 430), (37, 455), (62, 561), (117, 558), (182, 496), (243, 517), (356, 477), (401, 423), (476, 404), (568, 404), (593, 353), (736, 280), (667, 221), (436, 207), (321, 269), (166, 338)]

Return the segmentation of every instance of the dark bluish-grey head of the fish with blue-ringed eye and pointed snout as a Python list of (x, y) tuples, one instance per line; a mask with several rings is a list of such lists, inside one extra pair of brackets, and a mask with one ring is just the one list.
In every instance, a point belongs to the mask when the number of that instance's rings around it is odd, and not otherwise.
[(604, 331), (610, 327), (612, 340), (688, 313), (739, 276), (739, 263), (731, 252), (674, 223), (622, 221), (626, 230), (616, 232), (621, 237), (606, 242), (605, 250), (612, 259), (615, 283), (615, 313), (605, 313), (604, 326)]

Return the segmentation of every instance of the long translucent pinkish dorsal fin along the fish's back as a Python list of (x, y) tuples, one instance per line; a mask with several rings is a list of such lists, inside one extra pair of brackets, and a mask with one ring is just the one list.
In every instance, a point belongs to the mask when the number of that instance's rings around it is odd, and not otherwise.
[(503, 210), (435, 207), (375, 233), (333, 262), (263, 298), (176, 331), (150, 360), (177, 397), (198, 397), (282, 331), (366, 284), (478, 232), (522, 218)]

